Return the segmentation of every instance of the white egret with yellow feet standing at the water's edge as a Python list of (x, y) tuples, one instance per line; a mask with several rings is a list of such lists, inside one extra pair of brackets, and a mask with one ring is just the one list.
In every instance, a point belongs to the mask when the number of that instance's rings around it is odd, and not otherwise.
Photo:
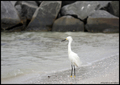
[(64, 39), (62, 41), (65, 41), (65, 40), (69, 41), (69, 43), (68, 43), (68, 58), (71, 61), (71, 76), (70, 77), (72, 77), (73, 69), (74, 69), (74, 77), (75, 77), (75, 66), (77, 66), (77, 67), (80, 66), (80, 64), (82, 62), (80, 61), (80, 57), (71, 50), (71, 43), (73, 41), (72, 37), (68, 36), (66, 39)]

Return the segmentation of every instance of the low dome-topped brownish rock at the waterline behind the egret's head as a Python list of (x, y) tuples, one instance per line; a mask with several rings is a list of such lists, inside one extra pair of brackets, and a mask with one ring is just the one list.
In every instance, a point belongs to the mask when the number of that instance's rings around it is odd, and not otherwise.
[(72, 16), (63, 16), (55, 20), (52, 31), (84, 31), (84, 23)]

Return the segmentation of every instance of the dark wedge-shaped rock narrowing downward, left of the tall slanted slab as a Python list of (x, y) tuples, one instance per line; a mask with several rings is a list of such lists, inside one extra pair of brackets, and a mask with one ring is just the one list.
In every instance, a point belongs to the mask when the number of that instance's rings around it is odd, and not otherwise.
[(23, 30), (27, 27), (28, 23), (31, 21), (32, 16), (36, 9), (38, 8), (38, 6), (35, 1), (17, 1), (15, 8), (18, 11), (18, 15), (23, 24), (22, 26), (20, 26), (22, 27)]

